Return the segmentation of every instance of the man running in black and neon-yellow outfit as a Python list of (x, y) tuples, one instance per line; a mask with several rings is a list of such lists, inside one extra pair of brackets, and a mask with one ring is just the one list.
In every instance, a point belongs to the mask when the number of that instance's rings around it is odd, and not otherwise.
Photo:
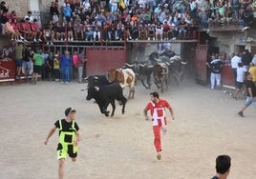
[(73, 108), (65, 109), (65, 119), (57, 120), (53, 128), (49, 131), (44, 144), (47, 145), (50, 137), (53, 135), (55, 129), (58, 129), (59, 140), (57, 145), (57, 159), (58, 165), (58, 178), (64, 178), (64, 164), (67, 154), (76, 161), (78, 144), (80, 142), (80, 130), (75, 122), (76, 111)]

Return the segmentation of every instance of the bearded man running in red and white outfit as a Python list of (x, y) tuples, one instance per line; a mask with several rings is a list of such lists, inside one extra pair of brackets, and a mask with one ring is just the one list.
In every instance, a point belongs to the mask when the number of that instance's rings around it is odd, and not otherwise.
[[(165, 115), (165, 109), (169, 109), (171, 118), (174, 120), (174, 110), (171, 105), (164, 99), (160, 99), (158, 92), (154, 91), (150, 93), (151, 102), (149, 102), (146, 108), (143, 110), (145, 119), (148, 121), (152, 119), (153, 122), (153, 132), (154, 132), (154, 145), (157, 150), (157, 159), (160, 160), (161, 155), (161, 144), (160, 144), (160, 133), (164, 134), (167, 131), (167, 121)], [(150, 110), (151, 116), (147, 114)]]

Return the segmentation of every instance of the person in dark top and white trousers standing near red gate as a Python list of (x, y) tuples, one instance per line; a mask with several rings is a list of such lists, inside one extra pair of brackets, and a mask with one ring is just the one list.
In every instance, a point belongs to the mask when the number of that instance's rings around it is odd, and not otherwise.
[(211, 70), (211, 89), (215, 88), (215, 82), (217, 88), (221, 89), (221, 73), (223, 68), (223, 62), (219, 59), (218, 55), (212, 56), (212, 61), (208, 64)]

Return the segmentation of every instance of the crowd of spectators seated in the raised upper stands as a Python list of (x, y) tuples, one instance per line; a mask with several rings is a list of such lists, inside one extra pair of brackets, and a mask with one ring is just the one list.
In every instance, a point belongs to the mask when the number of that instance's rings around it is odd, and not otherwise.
[(49, 23), (39, 27), (32, 11), (24, 18), (1, 2), (2, 33), (17, 42), (195, 39), (209, 26), (251, 26), (251, 1), (238, 0), (58, 0), (50, 5)]

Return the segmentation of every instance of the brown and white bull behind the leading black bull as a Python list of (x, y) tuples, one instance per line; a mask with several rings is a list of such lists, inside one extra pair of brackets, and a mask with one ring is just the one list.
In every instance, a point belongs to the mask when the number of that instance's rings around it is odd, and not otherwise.
[(110, 83), (117, 82), (122, 89), (129, 87), (128, 99), (135, 95), (135, 72), (131, 69), (110, 69), (108, 70), (108, 80)]

